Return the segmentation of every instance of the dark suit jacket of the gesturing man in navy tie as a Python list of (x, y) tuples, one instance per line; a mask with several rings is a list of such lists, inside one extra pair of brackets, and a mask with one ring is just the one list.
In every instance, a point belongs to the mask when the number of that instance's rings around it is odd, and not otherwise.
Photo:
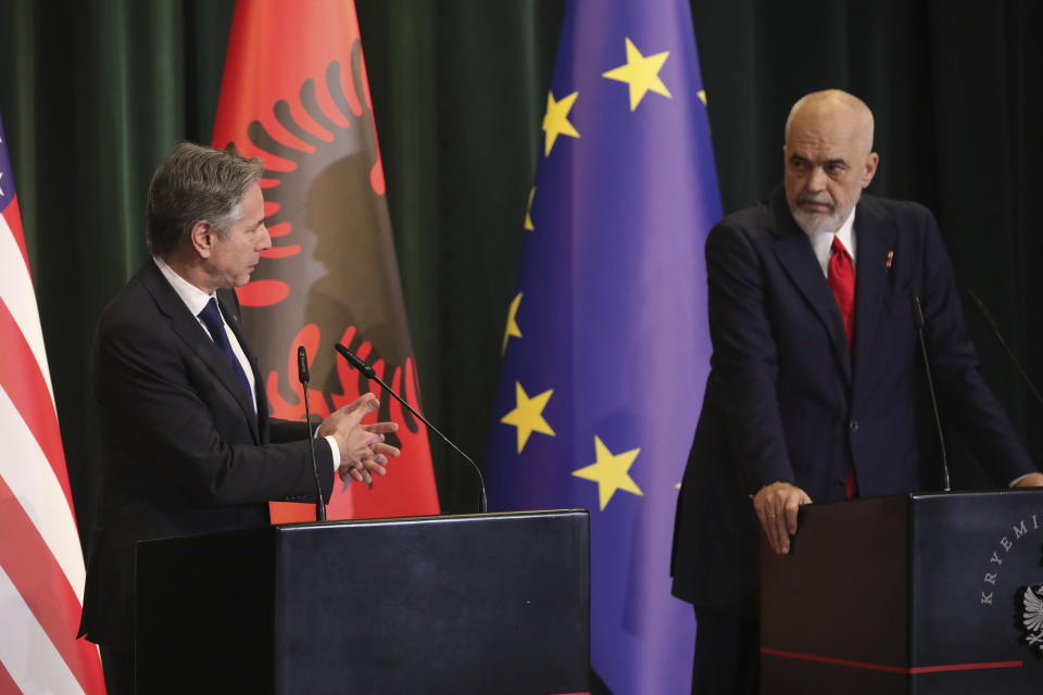
[[(260, 386), (235, 292), (218, 295)], [(151, 260), (98, 320), (92, 366), (101, 495), (80, 634), (129, 650), (137, 541), (264, 525), (267, 501), (312, 500), (315, 479), (305, 424), (269, 427), (263, 387), (254, 415), (231, 367)], [(326, 445), (315, 454), (328, 498), (332, 456)]]

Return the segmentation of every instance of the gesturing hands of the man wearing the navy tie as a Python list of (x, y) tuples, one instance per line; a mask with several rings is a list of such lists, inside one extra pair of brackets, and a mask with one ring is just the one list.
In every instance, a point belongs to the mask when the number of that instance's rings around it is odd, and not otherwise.
[(340, 448), (340, 466), (337, 473), (341, 480), (351, 476), (359, 482), (370, 482), (370, 473), (387, 475), (385, 466), (389, 456), (398, 456), (399, 450), (384, 443), (387, 432), (399, 429), (395, 422), (362, 425), (362, 418), (380, 407), (377, 396), (366, 393), (336, 410), (323, 420), (319, 437), (332, 437)]

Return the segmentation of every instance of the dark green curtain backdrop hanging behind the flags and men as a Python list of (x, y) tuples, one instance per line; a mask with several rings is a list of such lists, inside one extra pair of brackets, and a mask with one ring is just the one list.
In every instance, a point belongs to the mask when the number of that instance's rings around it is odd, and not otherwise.
[[(357, 2), (425, 406), (476, 457), (494, 420), (563, 7)], [(859, 94), (877, 115), (872, 192), (934, 210), (962, 286), (992, 307), (1039, 377), (1043, 5), (693, 0), (692, 10), (725, 208), (779, 182), (797, 97)], [(146, 257), (151, 172), (176, 141), (210, 141), (231, 11), (231, 0), (0, 0), (0, 113), (81, 529), (98, 454), (93, 323)], [(983, 323), (968, 324), (987, 379), (1039, 459), (1041, 408)], [(989, 484), (954, 448), (957, 483)], [(469, 509), (470, 477), (437, 444), (433, 455), (443, 507)]]

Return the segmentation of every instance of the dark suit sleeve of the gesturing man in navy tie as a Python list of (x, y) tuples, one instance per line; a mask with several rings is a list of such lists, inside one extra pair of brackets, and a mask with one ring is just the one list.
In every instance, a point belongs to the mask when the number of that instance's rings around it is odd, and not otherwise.
[[(265, 502), (314, 491), (309, 444), (256, 445), (250, 425), (194, 353), (169, 329), (103, 321), (95, 342), (95, 392), (108, 458), (152, 469), (201, 506)], [(303, 429), (303, 427), (302, 427)], [(325, 495), (328, 447), (316, 447)]]

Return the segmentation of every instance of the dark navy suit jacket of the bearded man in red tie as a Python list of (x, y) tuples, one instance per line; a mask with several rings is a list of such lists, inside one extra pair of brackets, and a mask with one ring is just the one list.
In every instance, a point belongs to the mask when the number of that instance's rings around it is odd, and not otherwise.
[[(706, 241), (711, 374), (678, 501), (674, 594), (750, 614), (759, 523), (750, 502), (787, 481), (815, 502), (920, 489), (919, 294), (939, 401), (998, 484), (1034, 470), (977, 368), (948, 256), (921, 205), (863, 195), (855, 215), (855, 336), (783, 191), (726, 217)], [(888, 254), (893, 252), (888, 266)], [(940, 482), (933, 483), (941, 488)]]

